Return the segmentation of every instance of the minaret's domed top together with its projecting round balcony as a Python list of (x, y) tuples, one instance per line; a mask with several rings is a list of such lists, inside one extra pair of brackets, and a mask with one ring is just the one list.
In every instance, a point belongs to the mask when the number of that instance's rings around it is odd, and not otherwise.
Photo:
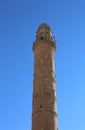
[(36, 39), (33, 44), (33, 51), (40, 44), (49, 44), (52, 48), (54, 48), (55, 51), (56, 49), (55, 43), (56, 41), (55, 38), (53, 37), (50, 26), (46, 23), (40, 24), (36, 32)]

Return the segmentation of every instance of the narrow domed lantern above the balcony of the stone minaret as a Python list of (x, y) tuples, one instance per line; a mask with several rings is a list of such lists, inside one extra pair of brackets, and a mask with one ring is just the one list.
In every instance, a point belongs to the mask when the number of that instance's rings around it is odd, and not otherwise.
[(50, 26), (46, 23), (41, 24), (36, 32), (36, 40), (49, 40), (52, 41), (52, 31)]

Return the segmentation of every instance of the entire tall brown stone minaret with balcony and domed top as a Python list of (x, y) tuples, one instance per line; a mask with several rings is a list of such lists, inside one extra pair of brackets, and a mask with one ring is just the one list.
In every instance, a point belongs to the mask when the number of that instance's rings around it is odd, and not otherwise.
[(32, 130), (57, 130), (55, 42), (49, 25), (36, 32), (34, 51)]

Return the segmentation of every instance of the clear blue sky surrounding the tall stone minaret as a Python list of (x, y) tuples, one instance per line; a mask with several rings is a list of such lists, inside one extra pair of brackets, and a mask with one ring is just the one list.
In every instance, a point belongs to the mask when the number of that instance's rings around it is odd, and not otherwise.
[(57, 40), (59, 130), (85, 130), (85, 0), (0, 0), (0, 130), (31, 130), (37, 27)]

